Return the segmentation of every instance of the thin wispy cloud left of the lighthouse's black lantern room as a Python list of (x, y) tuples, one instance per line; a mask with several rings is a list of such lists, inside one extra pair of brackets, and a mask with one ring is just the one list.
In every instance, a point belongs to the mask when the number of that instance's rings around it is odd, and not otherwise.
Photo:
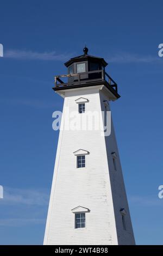
[(28, 60), (60, 60), (65, 61), (70, 58), (71, 54), (61, 53), (55, 51), (51, 52), (34, 52), (21, 50), (7, 50), (4, 52), (4, 58), (12, 59), (28, 59)]

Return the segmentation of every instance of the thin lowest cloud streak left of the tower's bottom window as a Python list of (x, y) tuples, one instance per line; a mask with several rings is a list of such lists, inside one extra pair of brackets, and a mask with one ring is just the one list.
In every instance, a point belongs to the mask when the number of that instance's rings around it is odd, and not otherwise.
[(22, 227), (24, 225), (44, 224), (45, 218), (1, 218), (0, 227)]

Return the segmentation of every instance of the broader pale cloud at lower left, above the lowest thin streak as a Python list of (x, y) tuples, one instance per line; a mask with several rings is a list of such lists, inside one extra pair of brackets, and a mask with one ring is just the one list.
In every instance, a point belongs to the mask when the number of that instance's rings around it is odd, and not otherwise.
[(4, 187), (4, 198), (0, 204), (47, 205), (49, 194), (43, 190)]

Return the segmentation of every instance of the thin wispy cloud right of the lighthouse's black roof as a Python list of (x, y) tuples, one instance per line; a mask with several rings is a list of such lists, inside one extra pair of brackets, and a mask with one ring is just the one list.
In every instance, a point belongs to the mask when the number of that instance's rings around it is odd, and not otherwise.
[(110, 56), (107, 58), (109, 63), (154, 63), (161, 62), (161, 58), (159, 56), (140, 56), (138, 54), (131, 53), (119, 53), (115, 54), (115, 56)]

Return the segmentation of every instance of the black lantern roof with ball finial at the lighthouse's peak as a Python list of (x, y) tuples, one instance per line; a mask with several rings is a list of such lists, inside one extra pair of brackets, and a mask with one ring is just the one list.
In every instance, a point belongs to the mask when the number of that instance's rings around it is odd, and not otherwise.
[(103, 66), (108, 65), (108, 63), (106, 63), (103, 58), (87, 54), (88, 49), (86, 47), (83, 49), (83, 51), (84, 51), (83, 55), (71, 58), (70, 60), (68, 60), (68, 62), (65, 63), (65, 66), (68, 67), (68, 66), (70, 66), (74, 62), (83, 62), (85, 60), (90, 60), (90, 61), (93, 61), (93, 62), (101, 62), (101, 64)]

